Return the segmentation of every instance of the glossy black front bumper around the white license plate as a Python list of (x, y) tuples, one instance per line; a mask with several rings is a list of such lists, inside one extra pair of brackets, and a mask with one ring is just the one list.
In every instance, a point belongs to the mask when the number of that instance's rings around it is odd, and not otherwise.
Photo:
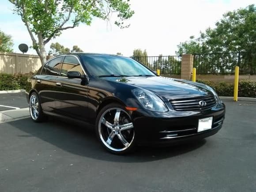
[[(143, 115), (133, 114), (136, 139), (139, 145), (169, 145), (214, 135), (222, 128), (225, 119), (225, 105), (218, 104), (212, 109), (200, 112), (177, 112)], [(197, 132), (198, 120), (213, 117), (212, 128)]]

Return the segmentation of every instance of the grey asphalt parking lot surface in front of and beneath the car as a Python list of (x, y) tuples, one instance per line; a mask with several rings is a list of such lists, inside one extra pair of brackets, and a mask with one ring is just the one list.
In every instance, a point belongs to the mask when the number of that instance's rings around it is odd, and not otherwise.
[(106, 152), (83, 124), (2, 123), (0, 191), (256, 191), (256, 102), (225, 103), (216, 135), (126, 156)]

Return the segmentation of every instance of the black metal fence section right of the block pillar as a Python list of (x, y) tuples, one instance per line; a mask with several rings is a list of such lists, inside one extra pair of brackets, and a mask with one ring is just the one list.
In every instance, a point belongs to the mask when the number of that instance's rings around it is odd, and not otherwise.
[(234, 74), (239, 66), (240, 74), (256, 75), (256, 53), (194, 54), (197, 74)]

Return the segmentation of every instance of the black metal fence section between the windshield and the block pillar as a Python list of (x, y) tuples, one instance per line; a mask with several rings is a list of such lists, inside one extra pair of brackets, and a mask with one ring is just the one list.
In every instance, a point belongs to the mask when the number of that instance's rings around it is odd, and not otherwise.
[(136, 56), (133, 59), (153, 71), (160, 69), (160, 74), (180, 75), (181, 56)]

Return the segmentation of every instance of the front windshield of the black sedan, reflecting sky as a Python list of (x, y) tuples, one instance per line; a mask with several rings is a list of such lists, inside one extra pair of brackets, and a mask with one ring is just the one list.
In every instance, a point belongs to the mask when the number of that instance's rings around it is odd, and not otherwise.
[(136, 60), (122, 56), (81, 56), (90, 75), (93, 76), (155, 76)]

